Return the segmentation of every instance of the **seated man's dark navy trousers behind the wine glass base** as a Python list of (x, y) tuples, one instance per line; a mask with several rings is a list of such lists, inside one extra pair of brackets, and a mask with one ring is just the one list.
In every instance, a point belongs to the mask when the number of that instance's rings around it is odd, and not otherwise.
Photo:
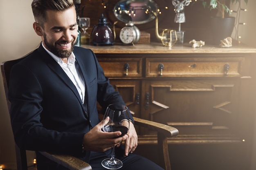
[[(92, 152), (90, 155), (90, 161), (88, 162), (92, 166), (92, 170), (106, 170), (101, 165), (101, 161), (106, 158), (110, 158), (112, 154), (112, 149), (106, 152)], [(123, 167), (119, 170), (163, 170), (154, 162), (141, 157), (136, 154), (129, 154), (128, 157), (123, 157), (123, 148), (115, 149), (115, 158), (123, 162)], [(79, 158), (82, 159), (83, 158)], [(42, 155), (37, 154), (37, 169), (38, 170), (67, 170), (67, 168), (56, 164), (49, 159), (45, 159)]]

